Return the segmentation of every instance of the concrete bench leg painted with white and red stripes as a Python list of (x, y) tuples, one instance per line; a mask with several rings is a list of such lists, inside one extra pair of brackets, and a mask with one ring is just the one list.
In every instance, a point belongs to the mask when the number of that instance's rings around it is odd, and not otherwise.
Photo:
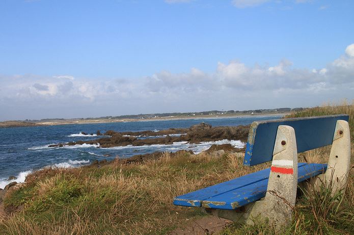
[(248, 224), (257, 220), (281, 227), (291, 220), (297, 189), (297, 149), (295, 131), (290, 126), (279, 126), (273, 152), (265, 197), (256, 201)]

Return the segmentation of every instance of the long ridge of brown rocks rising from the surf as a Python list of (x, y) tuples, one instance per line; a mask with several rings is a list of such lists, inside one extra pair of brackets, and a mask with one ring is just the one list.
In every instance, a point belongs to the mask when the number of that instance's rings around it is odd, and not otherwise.
[[(141, 131), (141, 132), (115, 132), (106, 131), (103, 135), (110, 136), (88, 141), (75, 141), (69, 143), (52, 144), (49, 147), (62, 147), (75, 144), (99, 144), (100, 148), (111, 148), (114, 146), (143, 146), (151, 144), (172, 144), (173, 142), (187, 141), (188, 143), (199, 143), (202, 141), (216, 141), (222, 139), (247, 141), (249, 126), (237, 127), (212, 127), (209, 124), (201, 123), (190, 128), (171, 128), (162, 131)], [(97, 131), (97, 134), (100, 134)], [(175, 134), (180, 134), (175, 135)], [(153, 138), (147, 138), (153, 137)]]

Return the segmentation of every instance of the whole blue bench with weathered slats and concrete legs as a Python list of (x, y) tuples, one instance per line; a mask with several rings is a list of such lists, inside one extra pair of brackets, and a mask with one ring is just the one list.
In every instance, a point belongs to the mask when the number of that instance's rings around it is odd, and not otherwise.
[[(332, 144), (328, 164), (297, 163), (297, 153)], [(345, 187), (350, 165), (348, 115), (254, 122), (243, 164), (272, 161), (271, 167), (175, 197), (174, 204), (201, 207), (234, 222), (262, 217), (278, 226), (291, 219), (297, 184), (321, 177), (333, 190)]]

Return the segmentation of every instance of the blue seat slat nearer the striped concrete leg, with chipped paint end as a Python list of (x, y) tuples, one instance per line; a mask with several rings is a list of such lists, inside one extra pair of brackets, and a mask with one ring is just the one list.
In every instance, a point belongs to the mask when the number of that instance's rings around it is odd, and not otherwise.
[[(326, 170), (326, 164), (306, 164), (298, 168), (297, 182), (305, 181)], [(265, 196), (268, 179), (258, 181), (202, 201), (202, 206), (212, 209), (234, 210)]]

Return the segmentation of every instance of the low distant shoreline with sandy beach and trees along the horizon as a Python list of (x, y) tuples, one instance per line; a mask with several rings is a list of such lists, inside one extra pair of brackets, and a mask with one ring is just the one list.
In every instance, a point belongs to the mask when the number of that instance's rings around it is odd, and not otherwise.
[(5, 121), (0, 122), (0, 128), (6, 127), (32, 127), (32, 126), (56, 126), (69, 124), (95, 124), (95, 123), (124, 123), (124, 122), (151, 122), (151, 121), (176, 121), (176, 120), (207, 120), (207, 119), (231, 119), (235, 117), (252, 117), (252, 116), (284, 116), (290, 112), (281, 113), (257, 113), (257, 114), (236, 114), (236, 115), (198, 115), (198, 116), (167, 116), (167, 117), (152, 117), (150, 119), (96, 119), (96, 120), (81, 120), (81, 119), (66, 119), (53, 120), (52, 122), (23, 122), (23, 121)]

